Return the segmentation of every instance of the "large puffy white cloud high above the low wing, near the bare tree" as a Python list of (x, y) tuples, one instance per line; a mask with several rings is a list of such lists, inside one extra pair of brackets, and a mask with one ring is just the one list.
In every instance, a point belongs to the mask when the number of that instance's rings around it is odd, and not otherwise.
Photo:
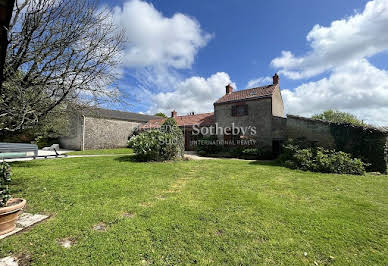
[(211, 39), (194, 18), (181, 13), (164, 17), (152, 4), (140, 0), (115, 7), (113, 14), (128, 40), (126, 66), (190, 68), (198, 50)]

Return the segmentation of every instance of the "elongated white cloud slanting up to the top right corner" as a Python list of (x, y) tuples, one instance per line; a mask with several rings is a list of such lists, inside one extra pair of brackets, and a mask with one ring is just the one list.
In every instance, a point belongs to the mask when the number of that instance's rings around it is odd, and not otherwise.
[(338, 65), (388, 50), (388, 0), (366, 4), (362, 13), (336, 20), (329, 27), (315, 25), (307, 35), (311, 51), (297, 57), (290, 51), (272, 60), (291, 79), (308, 78)]

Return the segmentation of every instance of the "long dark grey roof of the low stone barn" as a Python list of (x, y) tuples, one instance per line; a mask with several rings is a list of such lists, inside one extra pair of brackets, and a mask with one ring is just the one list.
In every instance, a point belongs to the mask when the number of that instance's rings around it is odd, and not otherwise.
[(82, 114), (85, 116), (106, 118), (106, 119), (118, 119), (125, 121), (136, 121), (136, 122), (148, 122), (151, 119), (157, 118), (153, 115), (143, 115), (138, 113), (123, 112), (117, 110), (109, 110), (103, 108), (87, 108), (82, 110)]

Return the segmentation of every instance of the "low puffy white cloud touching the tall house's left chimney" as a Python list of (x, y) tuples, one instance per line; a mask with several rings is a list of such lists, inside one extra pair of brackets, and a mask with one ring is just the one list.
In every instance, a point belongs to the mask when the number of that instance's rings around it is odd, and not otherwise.
[[(152, 94), (148, 113), (170, 114), (175, 109), (178, 115), (189, 112), (213, 112), (213, 103), (225, 94), (225, 86), (232, 83), (225, 72), (218, 72), (205, 79), (191, 77), (179, 82), (174, 91)], [(235, 85), (232, 83), (235, 87)]]

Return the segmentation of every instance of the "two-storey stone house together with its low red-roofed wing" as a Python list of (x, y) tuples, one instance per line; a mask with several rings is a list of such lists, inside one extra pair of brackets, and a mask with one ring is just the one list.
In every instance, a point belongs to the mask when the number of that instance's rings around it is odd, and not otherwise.
[[(253, 140), (250, 143), (275, 153), (286, 138), (286, 118), (277, 74), (273, 76), (273, 83), (267, 86), (233, 91), (232, 86), (227, 85), (225, 95), (214, 102), (213, 113), (178, 116), (173, 111), (171, 117), (185, 133), (186, 150), (194, 149), (192, 144), (198, 137), (195, 127), (215, 128), (218, 142), (224, 145), (238, 145), (244, 139)], [(142, 129), (158, 128), (164, 120), (150, 120)], [(236, 132), (233, 128), (245, 130)]]

